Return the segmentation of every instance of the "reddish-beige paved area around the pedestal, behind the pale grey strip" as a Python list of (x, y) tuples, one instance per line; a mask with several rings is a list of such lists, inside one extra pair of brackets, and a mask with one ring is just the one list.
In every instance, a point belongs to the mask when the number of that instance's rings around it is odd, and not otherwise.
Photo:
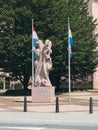
[[(93, 113), (98, 113), (98, 92), (72, 92), (71, 102), (68, 101), (68, 94), (59, 96), (60, 113), (89, 113), (89, 98), (93, 98)], [(23, 112), (24, 97), (0, 96), (0, 112)], [(54, 103), (31, 102), (31, 96), (27, 97), (27, 112), (33, 113), (55, 113)]]

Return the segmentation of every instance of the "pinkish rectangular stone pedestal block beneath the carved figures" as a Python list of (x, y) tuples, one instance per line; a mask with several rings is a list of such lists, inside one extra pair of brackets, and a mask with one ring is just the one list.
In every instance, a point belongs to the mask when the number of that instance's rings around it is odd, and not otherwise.
[(54, 101), (54, 87), (32, 87), (32, 103), (52, 103)]

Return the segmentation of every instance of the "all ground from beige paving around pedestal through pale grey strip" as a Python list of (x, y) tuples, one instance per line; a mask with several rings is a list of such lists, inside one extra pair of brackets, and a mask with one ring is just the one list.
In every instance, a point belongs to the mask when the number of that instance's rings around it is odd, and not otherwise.
[[(93, 113), (89, 114), (89, 98), (92, 97)], [(58, 125), (94, 125), (98, 126), (98, 94), (92, 92), (59, 95), (59, 113), (55, 112), (55, 103), (32, 104), (27, 97), (27, 112), (24, 110), (24, 97), (0, 96), (0, 123), (19, 124), (58, 124)]]

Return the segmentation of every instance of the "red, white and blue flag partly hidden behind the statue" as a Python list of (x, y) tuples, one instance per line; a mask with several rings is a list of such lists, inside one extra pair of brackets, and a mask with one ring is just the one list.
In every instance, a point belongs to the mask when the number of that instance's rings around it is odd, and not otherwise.
[[(36, 44), (36, 41), (38, 40), (37, 33), (35, 31), (35, 28), (32, 27), (32, 49), (35, 51), (35, 49), (38, 48), (38, 45)], [(34, 60), (36, 59), (36, 53), (34, 52)]]

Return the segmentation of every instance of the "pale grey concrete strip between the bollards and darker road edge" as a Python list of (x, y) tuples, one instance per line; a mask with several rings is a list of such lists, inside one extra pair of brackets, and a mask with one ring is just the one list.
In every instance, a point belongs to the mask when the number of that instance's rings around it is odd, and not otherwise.
[(98, 114), (0, 112), (0, 123), (98, 126)]

